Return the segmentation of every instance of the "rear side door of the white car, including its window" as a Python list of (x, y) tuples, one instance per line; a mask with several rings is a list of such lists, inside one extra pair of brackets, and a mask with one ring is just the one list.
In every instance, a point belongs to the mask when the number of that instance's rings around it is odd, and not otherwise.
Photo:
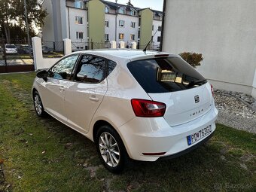
[(105, 59), (84, 54), (66, 89), (65, 108), (68, 124), (87, 133), (90, 121), (108, 89), (105, 79)]

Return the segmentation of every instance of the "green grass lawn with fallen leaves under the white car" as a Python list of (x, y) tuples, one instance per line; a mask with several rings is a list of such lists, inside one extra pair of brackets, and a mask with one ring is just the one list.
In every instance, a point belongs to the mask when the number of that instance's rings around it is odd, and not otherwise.
[(0, 75), (0, 191), (256, 191), (256, 136), (221, 124), (190, 154), (111, 174), (93, 142), (35, 115), (34, 77)]

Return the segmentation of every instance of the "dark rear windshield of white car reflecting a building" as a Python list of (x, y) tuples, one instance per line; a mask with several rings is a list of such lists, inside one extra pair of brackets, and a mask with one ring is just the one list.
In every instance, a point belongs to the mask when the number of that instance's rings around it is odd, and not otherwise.
[(197, 70), (179, 57), (129, 62), (128, 69), (147, 93), (168, 93), (206, 84)]

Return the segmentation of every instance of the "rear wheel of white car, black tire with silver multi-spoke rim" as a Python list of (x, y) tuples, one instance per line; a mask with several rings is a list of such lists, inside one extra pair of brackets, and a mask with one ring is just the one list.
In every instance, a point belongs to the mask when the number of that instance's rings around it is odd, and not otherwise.
[(99, 158), (108, 171), (119, 173), (129, 159), (122, 139), (111, 126), (100, 126), (96, 134)]

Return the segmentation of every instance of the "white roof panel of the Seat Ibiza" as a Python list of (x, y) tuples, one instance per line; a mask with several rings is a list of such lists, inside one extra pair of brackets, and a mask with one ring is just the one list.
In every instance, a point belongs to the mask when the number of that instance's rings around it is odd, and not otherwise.
[(175, 54), (170, 54), (166, 52), (159, 52), (155, 50), (132, 50), (132, 49), (102, 49), (102, 50), (81, 50), (81, 51), (76, 51), (75, 53), (87, 53), (87, 54), (92, 54), (96, 56), (102, 56), (107, 59), (131, 59), (131, 60), (136, 60), (136, 59), (144, 59), (144, 58), (151, 58), (154, 57), (155, 55), (168, 55), (168, 56), (177, 56)]

